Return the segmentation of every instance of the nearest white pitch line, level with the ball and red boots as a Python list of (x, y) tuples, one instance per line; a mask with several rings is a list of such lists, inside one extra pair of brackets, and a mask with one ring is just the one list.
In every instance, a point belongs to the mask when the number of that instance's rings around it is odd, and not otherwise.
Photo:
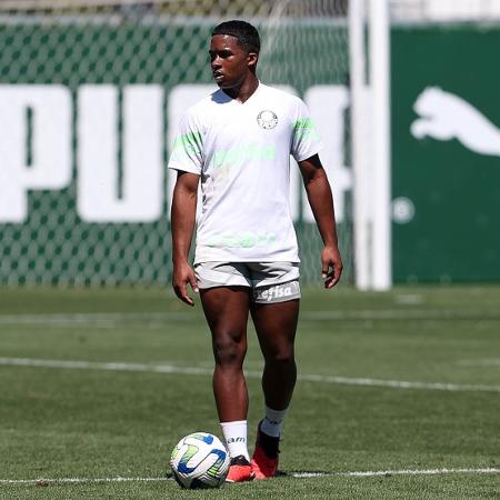
[[(289, 472), (286, 476), (292, 478), (326, 478), (326, 477), (354, 477), (354, 478), (373, 478), (390, 476), (444, 476), (444, 474), (498, 474), (500, 469), (402, 469), (402, 470), (367, 470), (367, 471), (347, 471), (347, 472)], [(172, 478), (59, 478), (59, 479), (0, 479), (0, 486), (9, 484), (78, 484), (78, 483), (99, 483), (99, 482), (160, 482), (171, 481)]]

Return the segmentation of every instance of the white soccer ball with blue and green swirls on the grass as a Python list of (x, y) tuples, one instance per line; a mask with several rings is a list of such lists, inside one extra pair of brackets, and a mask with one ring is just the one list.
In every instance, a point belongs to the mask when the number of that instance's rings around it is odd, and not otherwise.
[(170, 466), (181, 488), (219, 488), (229, 470), (229, 453), (217, 436), (194, 432), (172, 450)]

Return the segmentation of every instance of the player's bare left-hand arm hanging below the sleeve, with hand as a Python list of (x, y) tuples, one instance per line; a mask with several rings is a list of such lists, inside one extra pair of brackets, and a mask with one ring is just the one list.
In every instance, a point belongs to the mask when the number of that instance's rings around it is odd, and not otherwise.
[(196, 173), (178, 171), (172, 198), (172, 287), (177, 297), (189, 306), (194, 306), (194, 302), (188, 294), (188, 284), (198, 293), (194, 271), (189, 264), (189, 250), (194, 232), (199, 179)]

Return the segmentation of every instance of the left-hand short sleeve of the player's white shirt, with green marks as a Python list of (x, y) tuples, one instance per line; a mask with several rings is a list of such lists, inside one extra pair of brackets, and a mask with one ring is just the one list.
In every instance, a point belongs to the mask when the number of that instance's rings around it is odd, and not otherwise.
[(181, 119), (172, 146), (168, 168), (201, 174), (203, 167), (203, 141), (196, 116), (188, 111)]

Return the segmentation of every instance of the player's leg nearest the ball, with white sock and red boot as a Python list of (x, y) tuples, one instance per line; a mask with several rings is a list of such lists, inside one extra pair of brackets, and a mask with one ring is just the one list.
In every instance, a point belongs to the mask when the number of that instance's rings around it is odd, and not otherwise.
[(243, 376), (250, 289), (200, 288), (203, 311), (212, 333), (216, 361), (213, 394), (222, 433), (231, 457), (227, 480), (253, 479), (247, 444), (248, 391)]

